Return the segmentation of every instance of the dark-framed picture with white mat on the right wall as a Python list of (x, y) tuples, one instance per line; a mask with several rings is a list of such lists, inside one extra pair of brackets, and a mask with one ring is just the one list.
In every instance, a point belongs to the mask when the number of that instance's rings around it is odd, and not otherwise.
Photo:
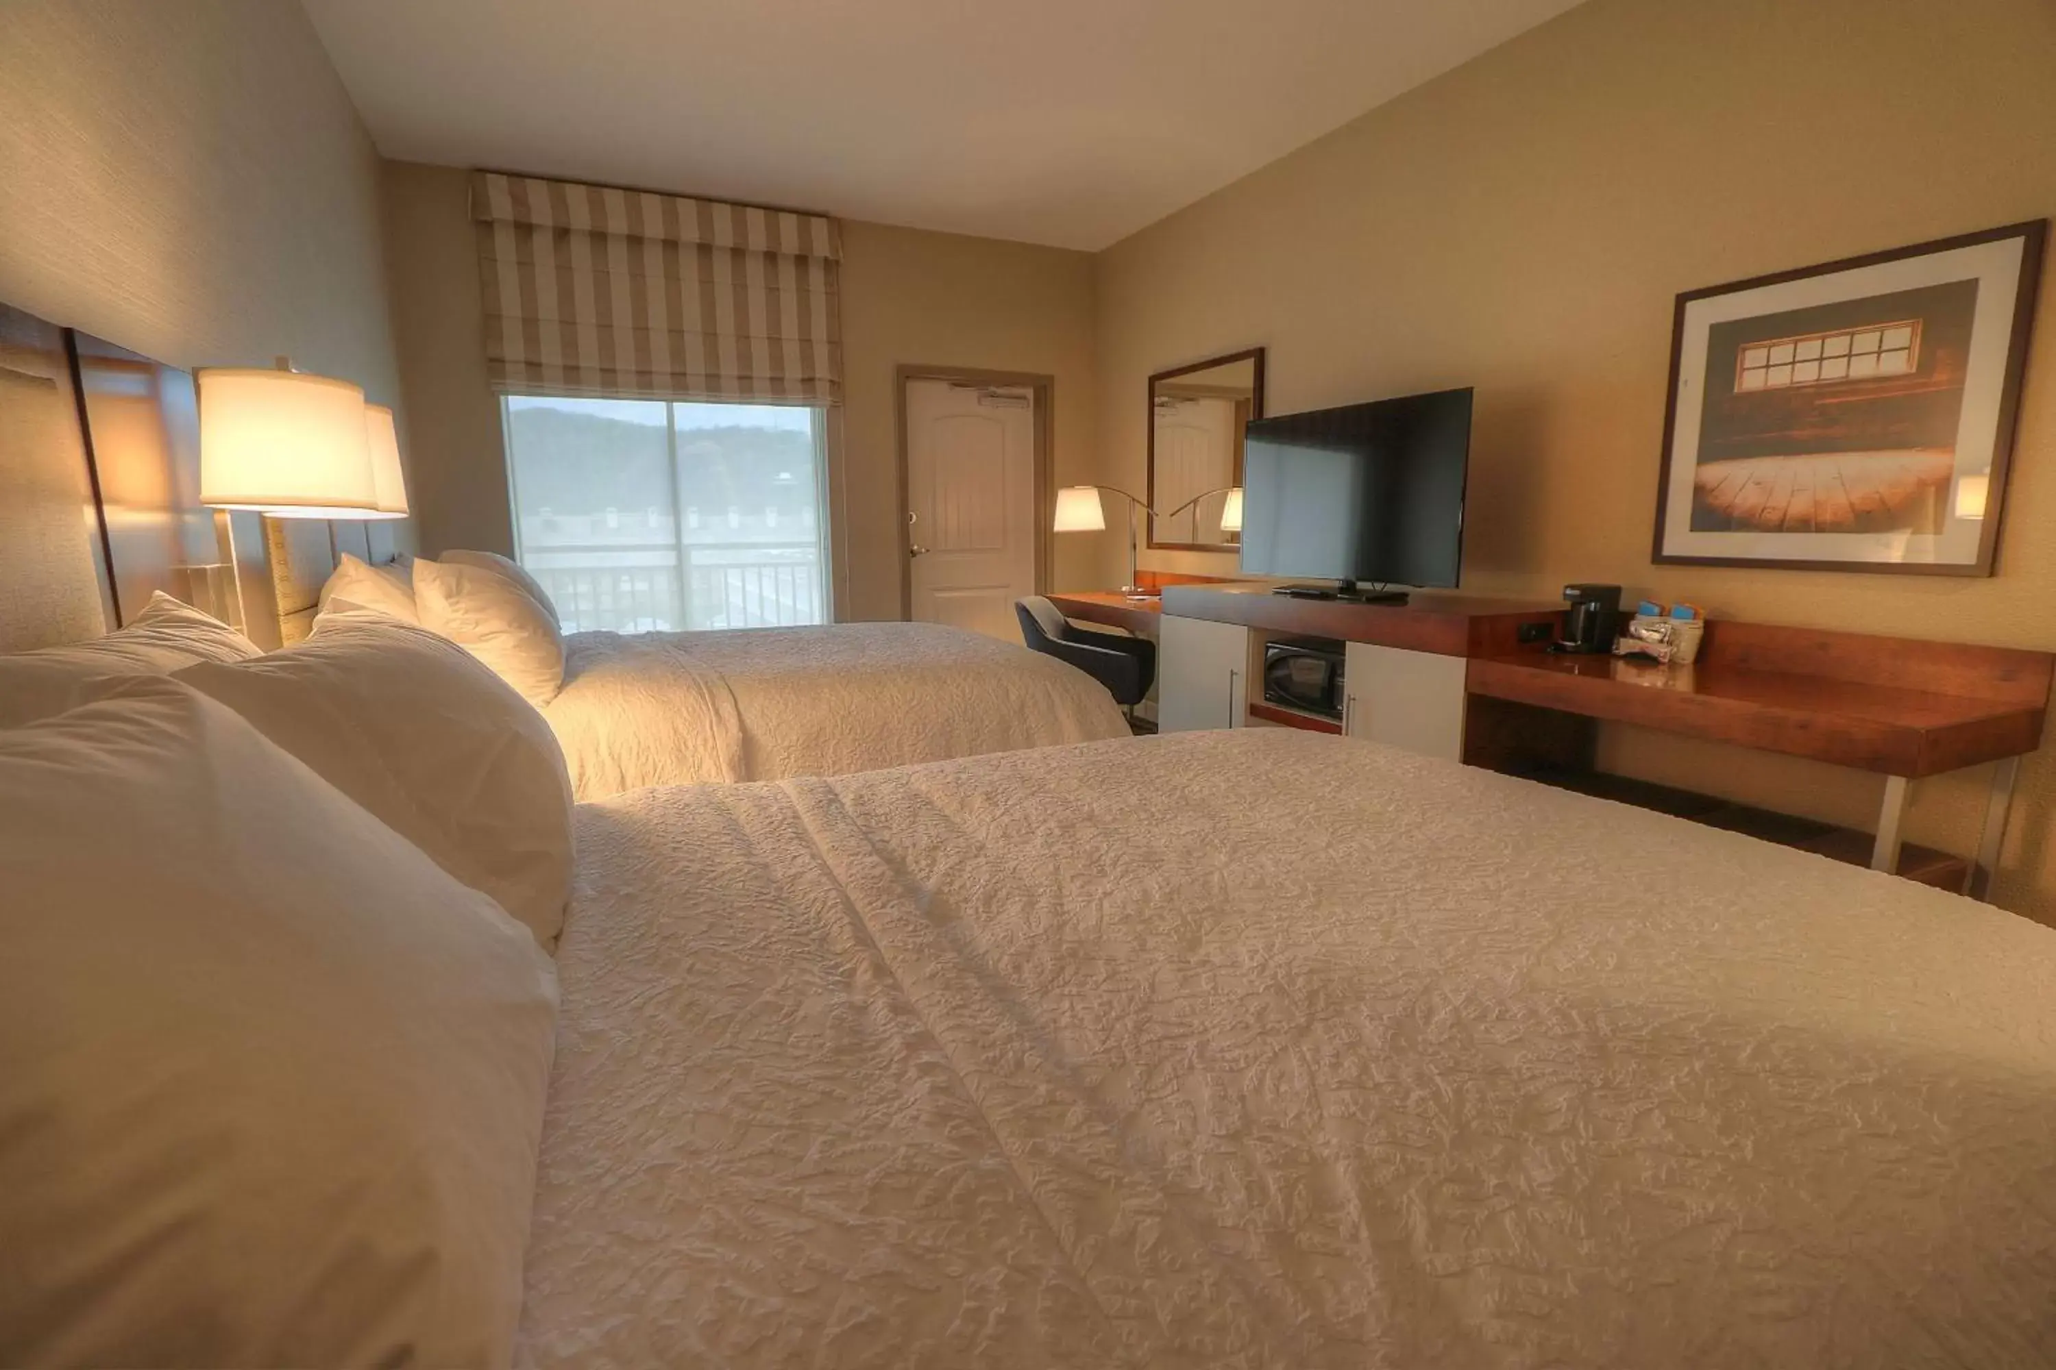
[(1655, 561), (1990, 575), (2046, 238), (1678, 296)]

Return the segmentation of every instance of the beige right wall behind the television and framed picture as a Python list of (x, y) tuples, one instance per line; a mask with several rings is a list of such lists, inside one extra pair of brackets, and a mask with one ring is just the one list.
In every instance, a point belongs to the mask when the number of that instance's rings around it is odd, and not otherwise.
[[(2056, 271), (1994, 579), (1649, 563), (1674, 296), (2056, 214), (2050, 72), (2048, 0), (1591, 0), (1102, 253), (1102, 470), (1141, 481), (1151, 370), (1264, 343), (1271, 413), (1478, 388), (1468, 589), (1620, 581), (1731, 618), (2056, 649)], [(1879, 789), (1626, 731), (1606, 750), (1844, 822)], [(1978, 783), (1929, 783), (1914, 836), (1968, 846)], [(2052, 836), (2044, 750), (1998, 898), (2046, 920)]]

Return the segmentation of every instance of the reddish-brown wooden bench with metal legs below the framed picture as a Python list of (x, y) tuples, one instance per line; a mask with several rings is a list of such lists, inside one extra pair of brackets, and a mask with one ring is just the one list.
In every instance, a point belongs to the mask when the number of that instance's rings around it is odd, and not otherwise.
[[(1713, 622), (1694, 665), (1493, 655), (1470, 661), (1464, 690), (1474, 700), (1632, 723), (1883, 774), (1885, 799), (1869, 852), (1877, 871), (1908, 873), (1900, 826), (1912, 781), (1998, 762), (1978, 854), (1953, 867), (1961, 873), (1959, 887), (1982, 898), (1998, 863), (2019, 758), (2042, 746), (2052, 676), (2056, 655), (2046, 651)], [(1470, 756), (1472, 739), (1466, 737), (1466, 760), (1497, 770), (1561, 772), (1569, 739), (1571, 752), (1585, 752), (1589, 768), (1589, 733), (1579, 739), (1561, 727), (1523, 727), (1519, 717), (1491, 707), (1474, 715), (1478, 756)], [(1521, 733), (1538, 744), (1526, 756)], [(1567, 783), (1591, 789), (1575, 776)], [(1678, 791), (1665, 795), (1657, 807), (1676, 803)], [(1820, 828), (1795, 844), (1840, 854), (1848, 850), (1848, 836), (1830, 838)], [(1937, 852), (1918, 857), (1922, 869), (1941, 869), (1931, 861)]]

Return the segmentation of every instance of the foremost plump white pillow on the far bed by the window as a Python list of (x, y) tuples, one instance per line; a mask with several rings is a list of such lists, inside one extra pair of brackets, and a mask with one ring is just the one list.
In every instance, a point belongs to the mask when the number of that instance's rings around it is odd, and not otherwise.
[[(489, 557), (489, 553), (475, 553)], [(506, 565), (493, 565), (506, 563)], [(421, 626), (440, 633), (541, 709), (563, 684), (563, 633), (557, 610), (537, 598), (526, 573), (510, 573), (504, 557), (489, 561), (413, 563), (413, 604)], [(514, 567), (520, 571), (520, 567)]]

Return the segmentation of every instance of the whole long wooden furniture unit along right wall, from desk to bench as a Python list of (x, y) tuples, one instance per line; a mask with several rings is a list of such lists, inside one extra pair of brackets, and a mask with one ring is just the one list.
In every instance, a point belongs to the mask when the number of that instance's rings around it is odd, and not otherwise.
[[(1079, 604), (1106, 600), (1118, 604)], [(2056, 655), (1715, 620), (1694, 665), (1554, 655), (1556, 606), (1415, 594), (1404, 606), (1291, 600), (1266, 585), (1166, 585), (1162, 616), (1121, 596), (1067, 614), (1149, 614), (1160, 725), (1310, 727), (1600, 793), (1768, 842), (1988, 898), (2019, 758), (2042, 746)], [(1147, 604), (1147, 602), (1145, 602)], [(1106, 616), (1102, 616), (1106, 614)], [(1262, 698), (1264, 645), (1345, 649), (1343, 717)], [(1869, 770), (1877, 832), (1855, 832), (1595, 770), (1602, 723), (1628, 723)], [(1914, 781), (1996, 762), (1974, 857), (1902, 840)]]

